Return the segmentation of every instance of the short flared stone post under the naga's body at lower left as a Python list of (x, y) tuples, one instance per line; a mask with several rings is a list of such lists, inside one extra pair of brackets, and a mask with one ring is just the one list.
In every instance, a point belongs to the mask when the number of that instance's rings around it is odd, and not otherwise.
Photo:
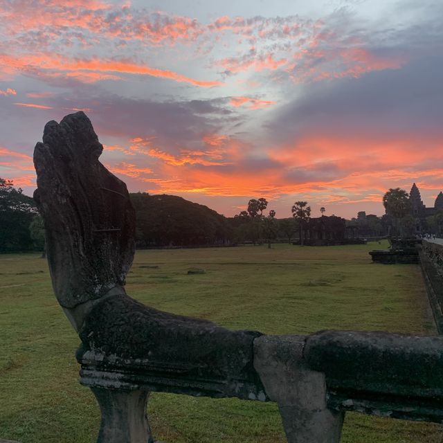
[(91, 388), (102, 412), (97, 443), (154, 443), (147, 421), (149, 392)]

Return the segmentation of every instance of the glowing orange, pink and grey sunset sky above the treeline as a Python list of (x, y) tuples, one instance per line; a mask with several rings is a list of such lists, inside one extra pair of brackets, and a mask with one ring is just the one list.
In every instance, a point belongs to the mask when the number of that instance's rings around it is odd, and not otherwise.
[(0, 177), (86, 112), (130, 191), (226, 216), (443, 190), (441, 0), (0, 0)]

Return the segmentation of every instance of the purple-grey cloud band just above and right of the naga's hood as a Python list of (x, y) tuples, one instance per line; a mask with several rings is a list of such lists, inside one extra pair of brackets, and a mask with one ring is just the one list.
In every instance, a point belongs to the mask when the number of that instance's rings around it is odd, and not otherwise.
[[(156, 137), (159, 145), (173, 153), (177, 148), (192, 147), (207, 133), (217, 133), (239, 116), (224, 106), (224, 100), (156, 102), (116, 95), (77, 97), (57, 96), (46, 100), (55, 109), (88, 108), (88, 116), (104, 136)], [(66, 112), (69, 114), (69, 112)]]

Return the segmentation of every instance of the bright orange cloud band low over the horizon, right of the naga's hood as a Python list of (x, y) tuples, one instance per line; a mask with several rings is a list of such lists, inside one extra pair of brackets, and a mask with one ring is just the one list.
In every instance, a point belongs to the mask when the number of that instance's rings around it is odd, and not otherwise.
[[(246, 151), (239, 145), (236, 150), (229, 150), (234, 142), (229, 139), (224, 147), (224, 158), (230, 168), (213, 168), (210, 163), (208, 168), (195, 168), (198, 162), (194, 159), (204, 151), (189, 151), (182, 156), (150, 151), (150, 155), (163, 163), (153, 168), (156, 177), (143, 179), (152, 183), (147, 192), (242, 198), (260, 195), (267, 199), (296, 195), (311, 204), (349, 206), (349, 211), (354, 204), (379, 204), (381, 212), (381, 197), (388, 188), (400, 186), (408, 190), (416, 181), (427, 183), (423, 190), (443, 189), (443, 168), (426, 165), (429, 159), (443, 161), (442, 143), (431, 138), (418, 141), (408, 135), (390, 140), (306, 136), (293, 147), (270, 149), (271, 161), (264, 160), (259, 169), (253, 165), (245, 168)], [(427, 146), (426, 151), (417, 149), (418, 142)], [(188, 156), (192, 161), (188, 161)], [(393, 164), (396, 168), (392, 168)]]

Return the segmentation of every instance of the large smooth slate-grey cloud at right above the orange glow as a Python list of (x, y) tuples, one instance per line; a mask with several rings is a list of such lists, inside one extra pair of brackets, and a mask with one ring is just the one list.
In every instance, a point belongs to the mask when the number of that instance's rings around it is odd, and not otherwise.
[(443, 56), (435, 55), (358, 79), (310, 84), (267, 127), (283, 142), (305, 134), (441, 134), (442, 72)]

